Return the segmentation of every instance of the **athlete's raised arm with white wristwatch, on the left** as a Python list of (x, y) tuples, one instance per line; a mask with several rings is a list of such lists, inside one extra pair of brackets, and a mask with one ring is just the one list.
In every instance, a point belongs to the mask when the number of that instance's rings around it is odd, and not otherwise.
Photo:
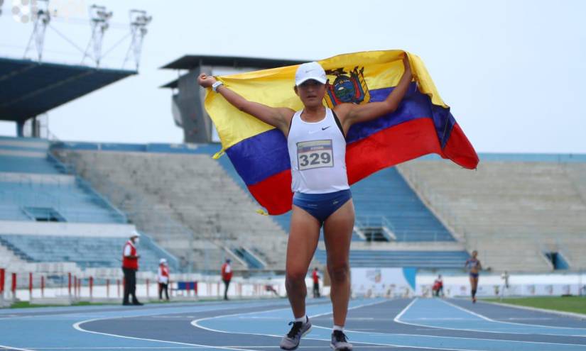
[[(205, 73), (202, 73), (199, 77), (197, 77), (197, 83), (204, 88), (212, 87), (215, 82), (217, 82), (217, 80), (214, 77), (208, 76)], [(289, 124), (291, 123), (291, 118), (293, 118), (293, 114), (295, 113), (295, 111), (293, 111), (291, 108), (271, 107), (259, 104), (258, 102), (248, 101), (224, 85), (219, 85), (219, 87), (216, 87), (216, 91), (218, 94), (224, 96), (226, 101), (232, 104), (232, 106), (238, 108), (240, 111), (246, 112), (251, 116), (259, 118), (259, 120), (263, 121), (264, 123), (278, 128), (285, 135), (288, 134)]]

